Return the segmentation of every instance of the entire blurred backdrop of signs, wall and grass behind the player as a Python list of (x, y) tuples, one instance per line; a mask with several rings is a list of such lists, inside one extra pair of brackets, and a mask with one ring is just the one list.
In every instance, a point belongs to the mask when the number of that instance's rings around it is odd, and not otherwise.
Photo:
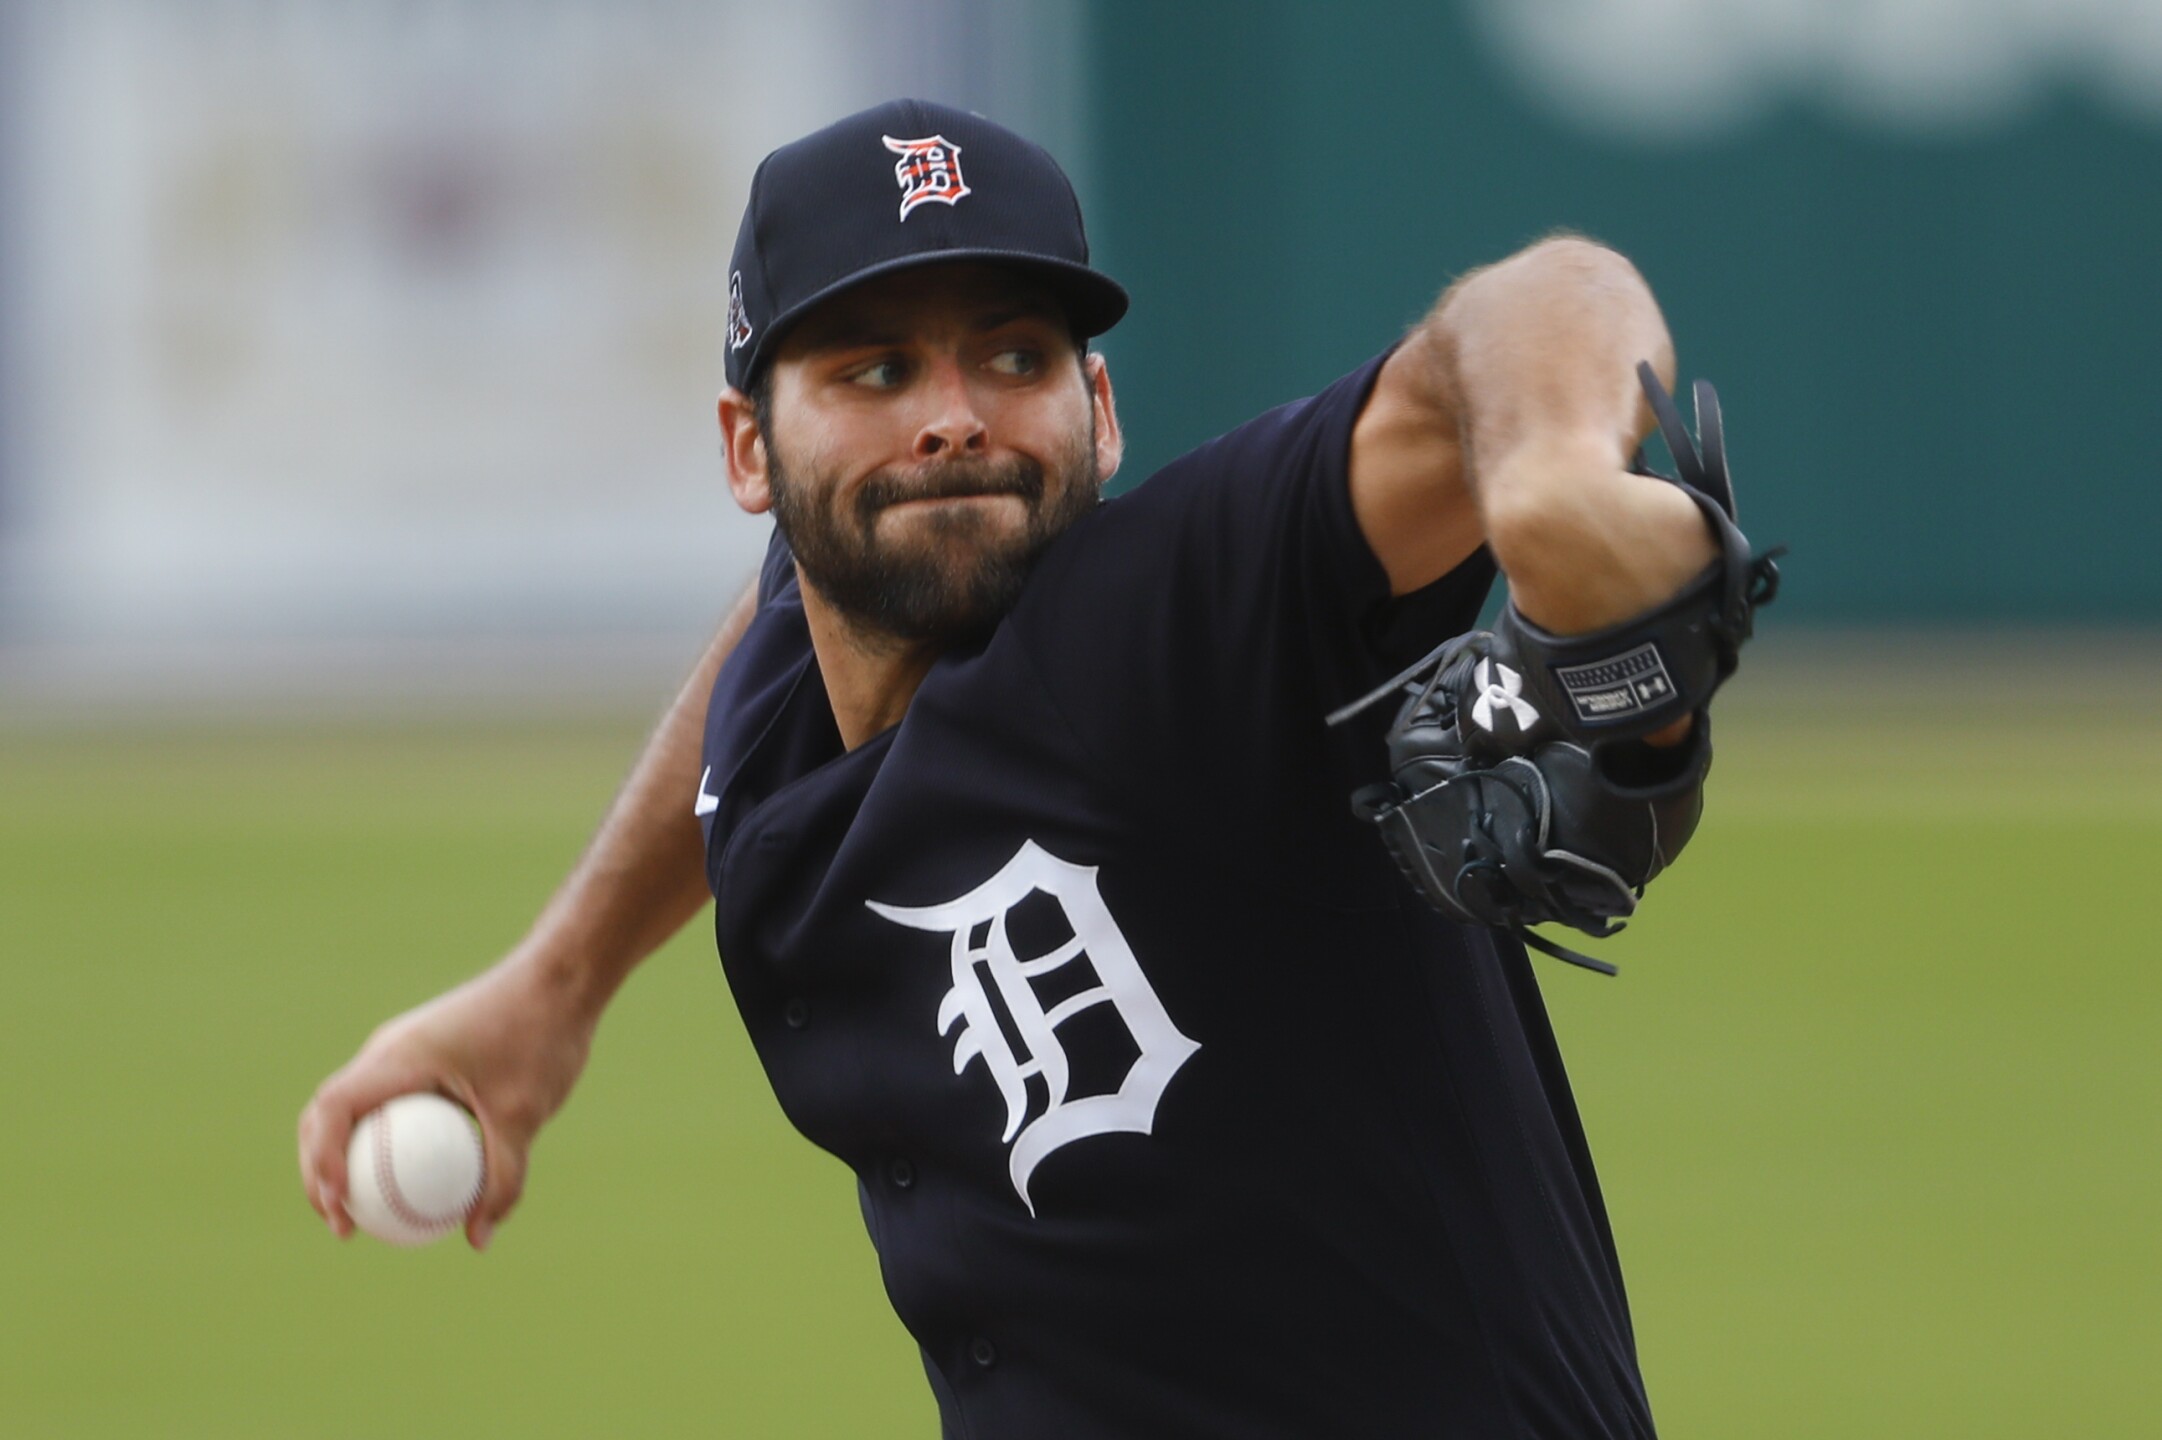
[(1639, 262), (1792, 547), (1691, 863), (1546, 975), (1654, 1410), (2153, 1434), (2156, 0), (0, 0), (0, 1429), (934, 1431), (698, 925), (484, 1261), (290, 1159), (748, 575), (744, 190), (897, 93), (1075, 175), (1122, 484)]

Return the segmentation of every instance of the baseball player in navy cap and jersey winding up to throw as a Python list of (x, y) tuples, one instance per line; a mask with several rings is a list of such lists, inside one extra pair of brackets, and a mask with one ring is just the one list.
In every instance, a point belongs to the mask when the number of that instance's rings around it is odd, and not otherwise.
[[(1535, 244), (1113, 502), (1126, 294), (1020, 136), (774, 151), (729, 285), (763, 571), (525, 943), (303, 1114), (333, 1230), (352, 1120), (435, 1088), (484, 1245), (709, 891), (947, 1436), (1650, 1436), (1520, 932), (1673, 858), (1771, 571), (1634, 268)], [(1693, 484), (1630, 467), (1647, 398)]]

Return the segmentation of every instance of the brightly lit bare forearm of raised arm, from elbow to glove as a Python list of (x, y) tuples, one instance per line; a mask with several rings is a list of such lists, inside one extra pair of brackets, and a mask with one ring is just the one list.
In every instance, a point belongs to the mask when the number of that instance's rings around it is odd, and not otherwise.
[(1637, 363), (1673, 378), (1667, 322), (1628, 259), (1546, 240), (1453, 285), (1425, 329), (1518, 610), (1563, 634), (1598, 629), (1712, 560), (1695, 504), (1624, 469), (1652, 428)]

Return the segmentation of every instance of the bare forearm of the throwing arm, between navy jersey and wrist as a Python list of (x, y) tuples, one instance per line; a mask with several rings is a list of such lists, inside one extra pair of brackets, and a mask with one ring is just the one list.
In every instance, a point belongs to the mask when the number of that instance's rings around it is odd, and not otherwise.
[(640, 960), (705, 904), (705, 845), (692, 800), (707, 696), (750, 625), (746, 590), (662, 716), (571, 876), (506, 964), (536, 966), (595, 1014)]

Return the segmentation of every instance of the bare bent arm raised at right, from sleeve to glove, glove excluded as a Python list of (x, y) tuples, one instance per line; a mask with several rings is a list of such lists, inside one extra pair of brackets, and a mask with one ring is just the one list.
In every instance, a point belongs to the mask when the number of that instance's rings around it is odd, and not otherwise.
[(1714, 558), (1699, 508), (1628, 474), (1673, 381), (1650, 285), (1615, 251), (1542, 240), (1459, 279), (1382, 365), (1351, 437), (1351, 510), (1405, 595), (1481, 543), (1520, 614), (1578, 634), (1650, 610)]

